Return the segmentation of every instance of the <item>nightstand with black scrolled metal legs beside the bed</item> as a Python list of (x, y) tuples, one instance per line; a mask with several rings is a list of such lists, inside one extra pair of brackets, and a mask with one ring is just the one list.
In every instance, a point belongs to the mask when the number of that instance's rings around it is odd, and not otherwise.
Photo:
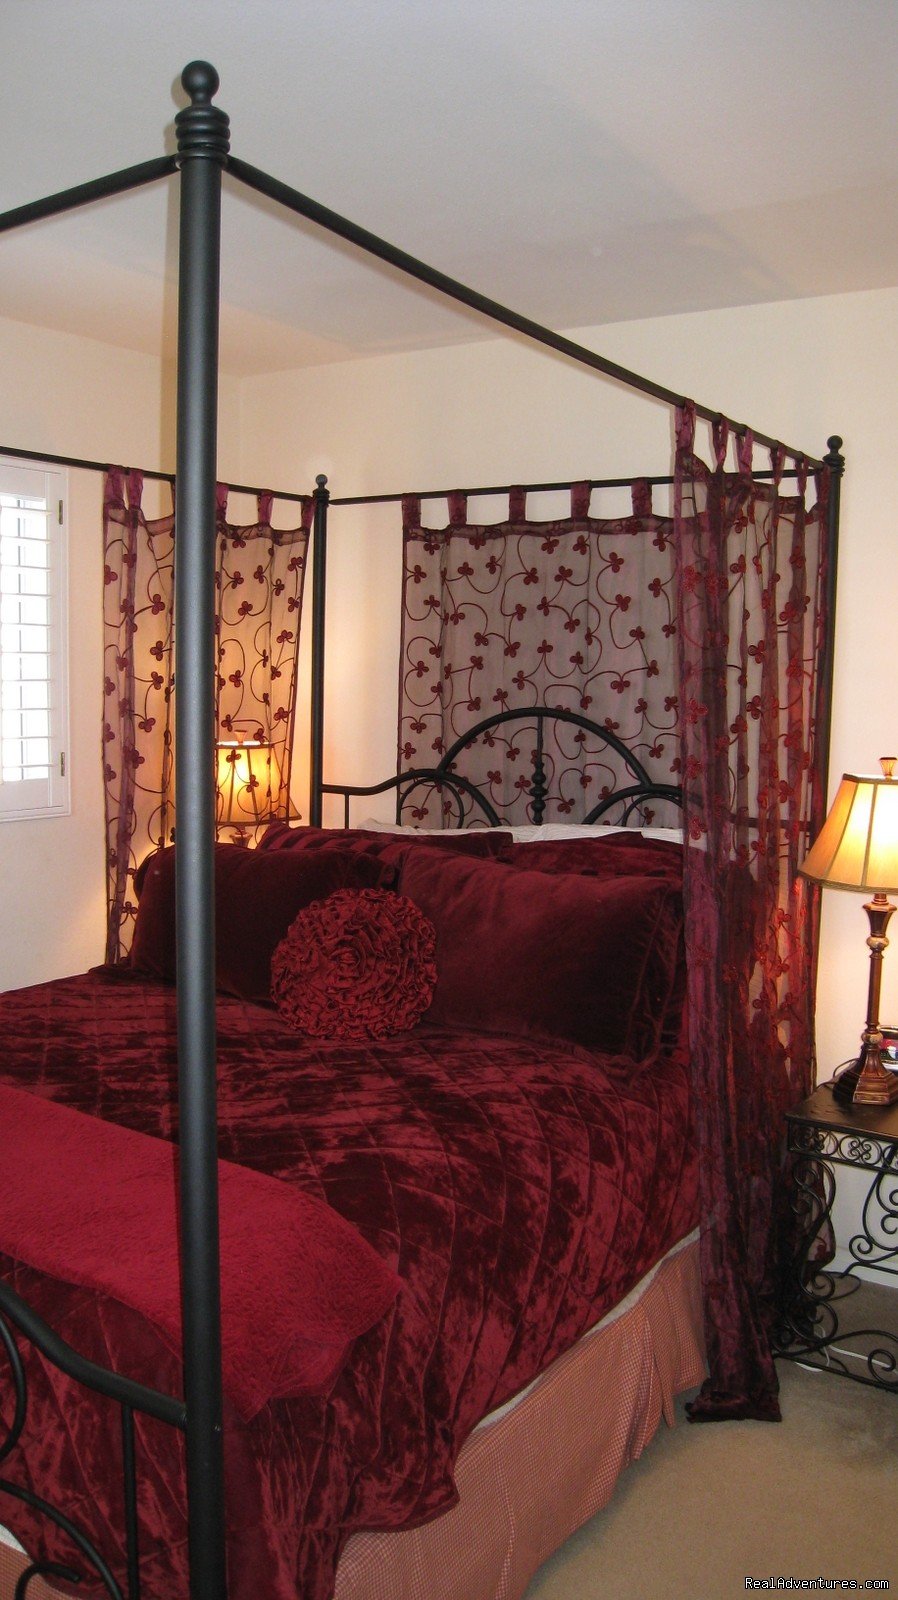
[[(799, 1242), (773, 1354), (898, 1394), (898, 1294), (856, 1275), (860, 1266), (876, 1267), (898, 1290), (898, 1104), (840, 1106), (824, 1083), (788, 1114), (788, 1126)], [(871, 1178), (861, 1232), (848, 1243), (852, 1261), (842, 1272), (831, 1267), (837, 1166)], [(884, 1310), (895, 1331), (869, 1325)]]

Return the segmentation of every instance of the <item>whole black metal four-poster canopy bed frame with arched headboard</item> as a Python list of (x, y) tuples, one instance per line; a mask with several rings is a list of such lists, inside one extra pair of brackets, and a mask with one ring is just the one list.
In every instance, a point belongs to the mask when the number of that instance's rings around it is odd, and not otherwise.
[[(218, 323), (219, 323), (219, 250), (221, 250), (221, 178), (227, 170), (258, 194), (279, 202), (338, 237), (349, 240), (365, 253), (386, 261), (405, 275), (437, 288), (440, 293), (469, 309), (498, 322), (515, 333), (560, 354), (579, 365), (589, 366), (629, 389), (661, 400), (667, 406), (682, 403), (682, 397), (659, 384), (608, 362), (594, 350), (554, 333), (539, 323), (509, 310), (506, 306), (479, 294), (463, 283), (415, 259), (407, 251), (386, 243), (367, 229), (327, 210), (317, 202), (291, 189), (266, 173), (237, 160), (229, 152), (227, 115), (213, 106), (219, 80), (214, 67), (203, 61), (190, 62), (181, 83), (189, 106), (174, 118), (178, 154), (142, 162), (106, 178), (80, 184), (48, 198), (18, 206), (0, 216), (0, 232), (29, 222), (58, 216), (94, 200), (125, 194), (142, 184), (181, 176), (181, 243), (179, 243), (179, 315), (178, 315), (178, 926), (190, 928), (190, 938), (178, 941), (178, 1054), (179, 1054), (179, 1106), (181, 1106), (181, 1237), (182, 1237), (182, 1317), (184, 1317), (184, 1402), (162, 1395), (117, 1373), (85, 1362), (64, 1344), (6, 1285), (0, 1285), (0, 1341), (13, 1371), (14, 1416), (0, 1438), (0, 1461), (18, 1443), (27, 1413), (27, 1387), (16, 1339), (6, 1322), (29, 1338), (43, 1355), (78, 1382), (112, 1397), (122, 1406), (122, 1438), (126, 1504), (128, 1546), (128, 1600), (139, 1597), (138, 1574), (138, 1526), (134, 1491), (134, 1435), (133, 1413), (144, 1411), (186, 1435), (187, 1458), (187, 1549), (190, 1568), (190, 1600), (224, 1600), (224, 1470), (222, 1470), (222, 1394), (221, 1394), (221, 1306), (219, 1306), (219, 1237), (218, 1237), (218, 1168), (216, 1168), (216, 1043), (214, 1043), (214, 923), (213, 923), (213, 840), (214, 795), (210, 782), (213, 771), (213, 600), (214, 600), (214, 482), (216, 482), (216, 400), (218, 400)], [(696, 405), (696, 414), (714, 421), (717, 413)], [(741, 432), (743, 429), (738, 429)], [(778, 442), (756, 432), (764, 445)], [(836, 549), (839, 528), (839, 480), (844, 470), (842, 440), (828, 442), (824, 458), (831, 469), (829, 499), (829, 618), (834, 618)], [(808, 467), (821, 462), (804, 451), (784, 450), (784, 456)], [(85, 462), (86, 464), (86, 462)], [(90, 462), (96, 466), (96, 462)], [(759, 474), (764, 477), (768, 474)], [(621, 482), (621, 480), (613, 480)], [(661, 480), (658, 480), (661, 482)], [(667, 480), (669, 482), (669, 480)], [(435, 493), (435, 491), (434, 491)], [(373, 496), (373, 499), (395, 496)], [(472, 786), (451, 771), (459, 749), (487, 726), (479, 725), (458, 741), (435, 770), (416, 770), (373, 789), (338, 789), (323, 782), (323, 622), (327, 576), (327, 480), (320, 477), (315, 490), (314, 520), (314, 570), (312, 570), (312, 765), (311, 765), (311, 821), (320, 822), (322, 795), (378, 794), (408, 782), (434, 782), (455, 787), (456, 794), (471, 794)], [(354, 499), (351, 502), (359, 502)], [(831, 685), (832, 638), (829, 638), (824, 670), (824, 693)], [(536, 709), (538, 758), (533, 774), (533, 816), (543, 816), (544, 774), (541, 768), (541, 731), (544, 715), (586, 725), (576, 714)], [(493, 722), (509, 720), (506, 712)], [(520, 714), (519, 714), (520, 715)], [(530, 709), (527, 715), (533, 717)], [(589, 725), (595, 728), (595, 725)], [(632, 811), (650, 794), (676, 800), (672, 786), (653, 786), (645, 770), (619, 741), (605, 730), (618, 754), (624, 758), (634, 784), (623, 792), (624, 805)], [(828, 733), (824, 733), (828, 741)], [(828, 754), (828, 749), (826, 752)], [(621, 798), (618, 795), (616, 798)], [(589, 814), (595, 819), (613, 803), (605, 797)], [(488, 822), (499, 821), (495, 810), (479, 797)], [(64, 1514), (40, 1501), (30, 1491), (0, 1478), (0, 1490), (27, 1501), (69, 1531), (72, 1541), (104, 1582), (112, 1600), (122, 1600), (122, 1590), (106, 1566), (99, 1552), (78, 1533)], [(32, 1565), (16, 1586), (16, 1600), (24, 1600), (30, 1579), (75, 1579), (74, 1570)]]

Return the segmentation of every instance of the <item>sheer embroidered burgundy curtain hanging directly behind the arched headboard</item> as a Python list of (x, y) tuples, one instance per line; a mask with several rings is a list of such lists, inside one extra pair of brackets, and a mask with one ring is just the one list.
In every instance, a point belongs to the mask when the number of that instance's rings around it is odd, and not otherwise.
[[(664, 782), (679, 781), (672, 520), (651, 512), (645, 480), (632, 515), (589, 515), (589, 483), (571, 486), (570, 517), (528, 522), (525, 490), (507, 518), (467, 522), (464, 494), (447, 528), (421, 526), (403, 501), (403, 621), (399, 768), (434, 766), (455, 739), (498, 710), (555, 706), (605, 723)], [(464, 776), (509, 822), (528, 822), (535, 726), (480, 736)], [(616, 757), (575, 726), (546, 730), (544, 821), (576, 822), (618, 789)], [(415, 790), (408, 821), (439, 827), (451, 802)], [(679, 824), (655, 802), (645, 822)]]

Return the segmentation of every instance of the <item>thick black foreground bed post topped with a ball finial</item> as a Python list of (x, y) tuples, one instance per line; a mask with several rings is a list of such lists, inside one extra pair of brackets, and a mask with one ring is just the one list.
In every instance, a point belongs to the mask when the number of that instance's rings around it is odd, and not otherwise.
[(227, 117), (218, 74), (181, 74), (178, 298), (176, 752), (178, 1101), (187, 1406), (187, 1552), (192, 1600), (222, 1600), (221, 1285), (214, 1038), (214, 480), (221, 171)]

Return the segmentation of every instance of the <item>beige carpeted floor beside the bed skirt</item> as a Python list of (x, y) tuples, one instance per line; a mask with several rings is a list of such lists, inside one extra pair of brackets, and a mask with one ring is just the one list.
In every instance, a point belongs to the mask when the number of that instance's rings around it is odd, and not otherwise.
[(898, 1590), (898, 1394), (778, 1371), (780, 1424), (693, 1426), (680, 1402), (527, 1600), (735, 1600), (746, 1578)]

